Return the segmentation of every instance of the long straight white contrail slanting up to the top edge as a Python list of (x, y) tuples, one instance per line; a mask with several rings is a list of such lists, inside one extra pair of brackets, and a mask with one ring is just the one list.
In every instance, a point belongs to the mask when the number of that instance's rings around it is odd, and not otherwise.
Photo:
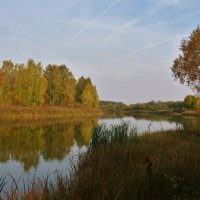
[(110, 11), (110, 9), (119, 2), (120, 0), (113, 1), (102, 13), (100, 13), (97, 17), (89, 21), (85, 27), (83, 27), (74, 37), (68, 42), (68, 45), (73, 42), (75, 39), (77, 39), (80, 35), (82, 35), (90, 26), (92, 26), (97, 20), (99, 20), (101, 17), (103, 17), (106, 13)]

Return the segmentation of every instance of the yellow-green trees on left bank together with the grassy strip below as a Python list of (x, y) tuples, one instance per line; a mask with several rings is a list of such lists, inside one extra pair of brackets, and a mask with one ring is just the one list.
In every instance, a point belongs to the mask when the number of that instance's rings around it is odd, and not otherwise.
[(0, 117), (68, 117), (101, 113), (90, 78), (76, 80), (66, 65), (7, 60), (0, 69)]

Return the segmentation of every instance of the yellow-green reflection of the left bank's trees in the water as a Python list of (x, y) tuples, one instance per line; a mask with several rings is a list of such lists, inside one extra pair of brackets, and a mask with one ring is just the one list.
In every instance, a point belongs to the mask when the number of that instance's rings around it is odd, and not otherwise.
[(25, 171), (44, 161), (62, 161), (75, 144), (87, 146), (98, 119), (66, 121), (48, 125), (0, 128), (0, 163), (15, 160)]

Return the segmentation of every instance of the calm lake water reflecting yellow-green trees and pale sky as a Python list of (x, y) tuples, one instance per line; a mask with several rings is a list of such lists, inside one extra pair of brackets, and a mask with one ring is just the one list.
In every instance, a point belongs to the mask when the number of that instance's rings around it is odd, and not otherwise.
[[(118, 124), (129, 121), (138, 134), (146, 131), (177, 128), (200, 129), (200, 119), (134, 116), (104, 119), (73, 119), (60, 121), (2, 121), (0, 122), (0, 176), (11, 174), (15, 179), (43, 177), (59, 170), (67, 172), (70, 159), (87, 151), (92, 132), (99, 123)], [(7, 178), (10, 187), (11, 177)], [(26, 178), (25, 178), (26, 179)]]

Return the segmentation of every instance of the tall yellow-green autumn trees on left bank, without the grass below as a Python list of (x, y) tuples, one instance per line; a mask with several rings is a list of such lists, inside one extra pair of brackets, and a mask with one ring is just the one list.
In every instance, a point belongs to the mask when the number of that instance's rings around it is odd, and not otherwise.
[(0, 69), (0, 103), (22, 106), (98, 107), (99, 97), (90, 78), (75, 79), (66, 65), (3, 61)]

